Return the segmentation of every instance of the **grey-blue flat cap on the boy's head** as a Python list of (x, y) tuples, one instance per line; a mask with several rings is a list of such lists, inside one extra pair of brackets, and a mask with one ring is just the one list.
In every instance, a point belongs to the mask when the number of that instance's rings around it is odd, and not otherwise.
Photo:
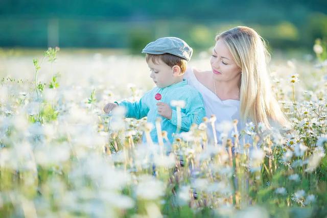
[(192, 57), (193, 49), (185, 41), (177, 37), (158, 38), (150, 42), (142, 50), (142, 53), (161, 55), (169, 53), (189, 61)]

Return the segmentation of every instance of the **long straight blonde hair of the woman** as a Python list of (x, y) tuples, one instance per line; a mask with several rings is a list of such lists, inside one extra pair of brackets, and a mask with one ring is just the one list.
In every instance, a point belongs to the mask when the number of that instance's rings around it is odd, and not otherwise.
[(263, 38), (249, 27), (235, 27), (216, 36), (223, 40), (242, 70), (240, 81), (240, 115), (268, 129), (271, 122), (289, 128), (288, 120), (271, 91), (267, 64), (270, 55)]

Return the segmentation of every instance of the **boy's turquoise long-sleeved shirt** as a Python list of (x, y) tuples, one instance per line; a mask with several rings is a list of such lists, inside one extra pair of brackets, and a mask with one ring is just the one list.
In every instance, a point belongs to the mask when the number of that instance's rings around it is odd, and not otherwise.
[[(161, 94), (161, 100), (158, 101), (154, 98), (155, 94)], [(173, 133), (177, 130), (177, 111), (176, 107), (171, 106), (171, 101), (183, 100), (185, 107), (181, 108), (181, 127), (180, 132), (187, 132), (193, 123), (200, 124), (202, 118), (205, 116), (204, 104), (202, 95), (195, 88), (188, 85), (187, 80), (173, 84), (166, 88), (155, 87), (150, 91), (146, 92), (141, 100), (138, 102), (123, 101), (119, 103), (119, 106), (126, 108), (126, 117), (141, 119), (142, 117), (148, 116), (148, 123), (153, 124), (153, 129), (150, 132), (153, 142), (158, 142), (157, 130), (155, 128), (156, 118), (161, 117), (161, 130), (167, 131), (168, 139), (170, 142), (173, 141)], [(172, 118), (167, 119), (157, 112), (156, 104), (163, 102), (171, 106)], [(143, 136), (143, 142), (146, 142)]]

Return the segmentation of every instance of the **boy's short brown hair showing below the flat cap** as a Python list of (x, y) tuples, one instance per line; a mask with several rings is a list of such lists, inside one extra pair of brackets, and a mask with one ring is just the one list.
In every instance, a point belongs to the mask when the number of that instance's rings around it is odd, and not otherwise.
[(177, 65), (180, 67), (182, 74), (184, 74), (186, 70), (186, 66), (188, 65), (188, 62), (184, 58), (169, 53), (165, 53), (162, 55), (147, 54), (146, 60), (147, 62), (151, 60), (155, 64), (158, 64), (159, 63), (158, 61), (161, 60), (162, 62), (164, 62), (170, 67)]

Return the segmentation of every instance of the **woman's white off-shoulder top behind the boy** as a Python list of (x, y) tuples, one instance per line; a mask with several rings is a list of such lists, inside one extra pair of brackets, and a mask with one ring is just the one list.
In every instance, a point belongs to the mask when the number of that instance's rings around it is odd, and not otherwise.
[[(202, 83), (200, 83), (194, 75), (193, 68), (188, 68), (185, 71), (184, 78), (188, 80), (188, 84), (196, 88), (203, 97), (204, 108), (206, 112), (206, 117), (210, 118), (212, 114), (217, 117), (216, 125), (229, 121), (232, 122), (233, 119), (239, 120), (238, 122), (238, 131), (244, 129), (245, 124), (240, 120), (240, 101), (239, 100), (220, 100), (218, 96), (205, 87)], [(221, 133), (216, 130), (216, 135), (219, 140), (219, 135)], [(230, 133), (231, 134), (231, 131)], [(211, 127), (209, 127), (208, 135), (210, 138), (213, 138), (213, 131)], [(220, 140), (219, 140), (220, 141)]]

